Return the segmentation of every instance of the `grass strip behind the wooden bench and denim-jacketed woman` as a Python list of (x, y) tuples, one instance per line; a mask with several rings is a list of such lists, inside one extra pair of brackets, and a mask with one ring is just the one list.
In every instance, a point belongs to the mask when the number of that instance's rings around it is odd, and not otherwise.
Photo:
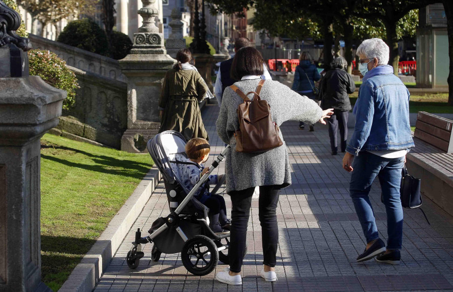
[[(352, 106), (357, 101), (357, 92), (349, 95)], [(411, 95), (409, 101), (409, 111), (411, 113), (417, 113), (419, 111), (425, 111), (428, 113), (453, 113), (453, 106), (448, 106), (448, 93), (427, 93)]]

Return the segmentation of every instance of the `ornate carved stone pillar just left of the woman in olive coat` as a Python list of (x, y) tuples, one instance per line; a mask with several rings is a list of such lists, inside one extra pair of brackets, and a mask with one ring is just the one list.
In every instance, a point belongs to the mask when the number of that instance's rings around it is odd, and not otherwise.
[(176, 62), (167, 55), (164, 34), (156, 26), (157, 0), (141, 1), (143, 8), (138, 14), (143, 25), (134, 34), (130, 54), (119, 60), (127, 77), (127, 130), (121, 138), (121, 150), (132, 153), (146, 153), (146, 141), (159, 130), (162, 84), (167, 70)]

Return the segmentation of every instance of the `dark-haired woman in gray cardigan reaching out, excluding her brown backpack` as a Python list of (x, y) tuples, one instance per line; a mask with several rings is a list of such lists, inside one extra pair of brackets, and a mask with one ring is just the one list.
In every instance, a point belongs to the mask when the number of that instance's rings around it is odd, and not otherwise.
[[(235, 85), (244, 93), (255, 91), (263, 75), (263, 58), (252, 47), (240, 49), (233, 60), (232, 78), (241, 80)], [(250, 95), (253, 97), (253, 95)], [(314, 124), (325, 124), (332, 109), (323, 111), (316, 102), (300, 96), (276, 81), (266, 81), (260, 97), (270, 105), (272, 120), (281, 125), (284, 121), (295, 120)], [(235, 131), (239, 130), (237, 109), (244, 100), (231, 88), (226, 88), (216, 122), (218, 136), (231, 145), (226, 155), (226, 191), (232, 201), (232, 226), (229, 249), (230, 268), (216, 275), (216, 279), (227, 284), (240, 285), (240, 275), (246, 243), (247, 224), (250, 216), (252, 195), (256, 186), (260, 187), (259, 219), (262, 227), (264, 267), (261, 277), (275, 281), (278, 227), (276, 208), (278, 192), (291, 184), (290, 165), (286, 145), (264, 153), (236, 152)]]

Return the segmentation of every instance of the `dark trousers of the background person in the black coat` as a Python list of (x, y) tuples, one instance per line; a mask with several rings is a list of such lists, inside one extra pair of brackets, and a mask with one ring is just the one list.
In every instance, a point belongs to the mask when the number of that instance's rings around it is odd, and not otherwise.
[(348, 139), (348, 117), (349, 111), (334, 109), (334, 114), (330, 116), (330, 119), (327, 119), (327, 123), (329, 124), (330, 147), (332, 152), (338, 152), (338, 128), (340, 128), (341, 152), (346, 151), (346, 142)]

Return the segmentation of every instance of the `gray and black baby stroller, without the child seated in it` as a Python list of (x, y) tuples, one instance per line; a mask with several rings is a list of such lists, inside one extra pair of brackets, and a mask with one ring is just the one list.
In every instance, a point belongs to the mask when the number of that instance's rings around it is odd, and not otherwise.
[[(155, 262), (159, 261), (161, 253), (181, 252), (184, 267), (194, 275), (209, 274), (219, 259), (225, 264), (229, 263), (230, 233), (218, 235), (209, 228), (209, 209), (193, 195), (200, 187), (206, 187), (206, 179), (225, 159), (230, 145), (217, 156), (209, 167), (209, 172), (201, 177), (192, 190), (188, 190), (181, 183), (177, 167), (177, 164), (187, 163), (185, 144), (184, 136), (176, 131), (159, 133), (147, 143), (148, 152), (163, 176), (170, 214), (158, 218), (146, 237), (141, 237), (140, 229), (137, 230), (135, 241), (126, 256), (127, 265), (131, 269), (135, 269), (144, 256), (141, 245), (146, 243), (154, 243), (151, 259)], [(224, 177), (211, 193), (215, 193), (223, 182)]]

